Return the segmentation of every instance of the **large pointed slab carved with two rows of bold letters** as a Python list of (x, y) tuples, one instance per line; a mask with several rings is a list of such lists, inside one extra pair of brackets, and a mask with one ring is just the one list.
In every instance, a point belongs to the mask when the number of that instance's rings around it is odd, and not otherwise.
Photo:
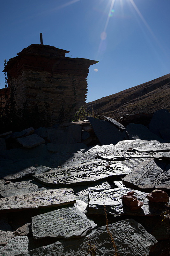
[(115, 175), (128, 174), (129, 168), (112, 162), (91, 162), (71, 168), (54, 169), (33, 175), (34, 179), (49, 187), (89, 184)]

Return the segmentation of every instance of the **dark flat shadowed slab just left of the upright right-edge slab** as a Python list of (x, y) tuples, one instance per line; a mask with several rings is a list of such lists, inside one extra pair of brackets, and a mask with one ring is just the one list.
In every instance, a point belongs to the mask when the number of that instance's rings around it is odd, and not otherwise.
[(129, 140), (158, 140), (163, 143), (165, 140), (161, 139), (156, 134), (152, 133), (146, 126), (142, 124), (129, 124), (125, 131), (129, 136)]

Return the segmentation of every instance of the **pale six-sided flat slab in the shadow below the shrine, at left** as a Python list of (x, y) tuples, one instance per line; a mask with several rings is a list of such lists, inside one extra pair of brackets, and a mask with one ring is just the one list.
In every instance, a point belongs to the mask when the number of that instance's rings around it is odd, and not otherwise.
[(17, 142), (23, 145), (23, 148), (33, 148), (45, 143), (45, 140), (34, 133), (23, 138), (18, 138)]

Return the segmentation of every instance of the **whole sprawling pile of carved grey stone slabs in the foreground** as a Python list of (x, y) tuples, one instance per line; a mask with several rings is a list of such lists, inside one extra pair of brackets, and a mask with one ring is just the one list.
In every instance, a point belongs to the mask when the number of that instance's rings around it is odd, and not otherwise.
[[(166, 253), (166, 203), (147, 195), (170, 196), (170, 142), (139, 124), (88, 119), (0, 135), (0, 255), (88, 255), (89, 240), (97, 256), (113, 255), (104, 204), (120, 255)], [(128, 192), (142, 207), (122, 202)]]

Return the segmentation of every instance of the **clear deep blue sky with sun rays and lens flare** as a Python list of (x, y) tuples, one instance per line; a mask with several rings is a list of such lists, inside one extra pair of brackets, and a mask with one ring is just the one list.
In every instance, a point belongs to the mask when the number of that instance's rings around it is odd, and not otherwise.
[[(30, 44), (99, 60), (86, 102), (170, 73), (169, 0), (6, 0), (0, 11), (0, 67)], [(98, 70), (98, 71), (97, 71)], [(0, 86), (4, 74), (0, 72)]]

